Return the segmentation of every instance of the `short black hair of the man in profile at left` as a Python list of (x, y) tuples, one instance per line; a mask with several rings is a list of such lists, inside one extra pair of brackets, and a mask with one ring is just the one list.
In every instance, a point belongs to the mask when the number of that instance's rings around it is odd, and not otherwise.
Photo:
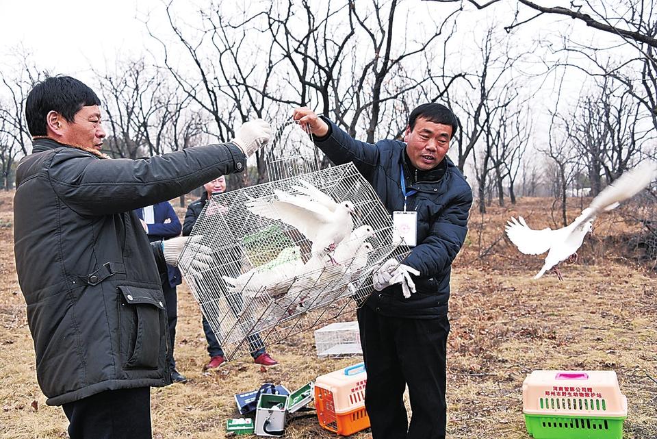
[(25, 119), (32, 136), (45, 136), (46, 116), (51, 111), (61, 114), (66, 121), (73, 118), (82, 107), (101, 105), (94, 90), (70, 76), (52, 76), (38, 82), (27, 95)]

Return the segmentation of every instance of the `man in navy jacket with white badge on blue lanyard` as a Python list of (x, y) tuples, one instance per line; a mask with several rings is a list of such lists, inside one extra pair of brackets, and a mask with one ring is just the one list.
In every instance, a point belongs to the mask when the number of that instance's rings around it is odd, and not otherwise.
[(374, 273), (377, 291), (357, 312), (372, 437), (445, 438), (450, 273), (472, 204), (472, 190), (446, 157), (456, 116), (444, 105), (420, 105), (409, 116), (404, 142), (376, 145), (354, 140), (308, 108), (297, 108), (293, 118), (309, 125), (315, 145), (335, 164), (356, 165), (409, 244), (403, 264), (388, 261)]

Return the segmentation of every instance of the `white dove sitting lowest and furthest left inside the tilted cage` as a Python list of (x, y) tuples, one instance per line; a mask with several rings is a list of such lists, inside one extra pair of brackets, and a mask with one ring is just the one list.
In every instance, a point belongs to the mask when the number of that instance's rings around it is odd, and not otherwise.
[(301, 249), (294, 246), (281, 250), (274, 260), (252, 268), (236, 278), (222, 276), (222, 279), (231, 286), (230, 292), (242, 292), (253, 297), (265, 288), (271, 297), (276, 297), (287, 291), (296, 273), (302, 269)]

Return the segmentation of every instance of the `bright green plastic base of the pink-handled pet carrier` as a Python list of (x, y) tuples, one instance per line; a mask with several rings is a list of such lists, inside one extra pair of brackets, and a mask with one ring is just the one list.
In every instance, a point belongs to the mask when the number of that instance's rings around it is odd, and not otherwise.
[(625, 418), (525, 414), (525, 425), (534, 439), (622, 439)]

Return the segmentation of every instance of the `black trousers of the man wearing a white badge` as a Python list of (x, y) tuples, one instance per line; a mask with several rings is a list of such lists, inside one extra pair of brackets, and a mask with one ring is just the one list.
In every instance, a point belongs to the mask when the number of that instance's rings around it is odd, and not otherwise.
[[(365, 408), (373, 439), (444, 439), (447, 422), (447, 316), (422, 320), (358, 310), (368, 373)], [(409, 386), (411, 424), (404, 407)]]

